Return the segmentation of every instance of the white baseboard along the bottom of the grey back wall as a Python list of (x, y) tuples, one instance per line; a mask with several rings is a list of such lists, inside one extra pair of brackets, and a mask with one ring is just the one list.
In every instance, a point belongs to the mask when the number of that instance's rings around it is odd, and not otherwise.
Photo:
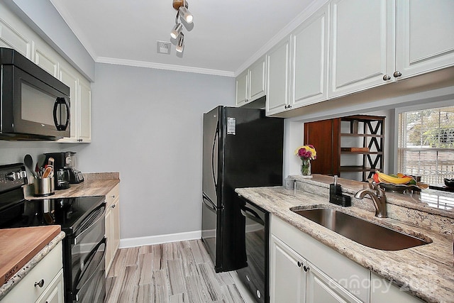
[(187, 233), (170, 233), (168, 235), (147, 236), (138, 238), (125, 238), (120, 240), (119, 248), (154, 245), (161, 243), (196, 240), (201, 238), (201, 231), (189, 231)]

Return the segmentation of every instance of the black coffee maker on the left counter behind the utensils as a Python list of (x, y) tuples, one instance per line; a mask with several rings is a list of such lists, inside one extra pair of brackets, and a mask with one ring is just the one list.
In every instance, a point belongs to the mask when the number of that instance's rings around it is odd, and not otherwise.
[(45, 153), (45, 163), (49, 158), (54, 158), (55, 189), (65, 189), (70, 184), (77, 184), (84, 181), (82, 172), (76, 170), (76, 153), (67, 151), (60, 153)]

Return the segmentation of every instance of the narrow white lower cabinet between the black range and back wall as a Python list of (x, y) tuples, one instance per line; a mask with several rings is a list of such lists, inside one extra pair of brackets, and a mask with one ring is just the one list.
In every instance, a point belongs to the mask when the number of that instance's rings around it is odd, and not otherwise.
[(106, 275), (120, 246), (120, 186), (106, 195)]

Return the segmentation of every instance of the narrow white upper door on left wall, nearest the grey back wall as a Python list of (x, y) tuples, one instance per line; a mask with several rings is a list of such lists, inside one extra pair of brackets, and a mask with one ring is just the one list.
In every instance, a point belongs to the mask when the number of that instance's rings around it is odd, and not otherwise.
[(88, 81), (79, 80), (79, 142), (92, 141), (92, 89)]

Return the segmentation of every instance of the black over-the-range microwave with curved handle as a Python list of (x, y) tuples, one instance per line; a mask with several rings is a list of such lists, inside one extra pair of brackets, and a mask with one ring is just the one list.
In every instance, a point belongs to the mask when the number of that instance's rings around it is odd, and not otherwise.
[(70, 137), (70, 87), (11, 48), (0, 65), (0, 139)]

